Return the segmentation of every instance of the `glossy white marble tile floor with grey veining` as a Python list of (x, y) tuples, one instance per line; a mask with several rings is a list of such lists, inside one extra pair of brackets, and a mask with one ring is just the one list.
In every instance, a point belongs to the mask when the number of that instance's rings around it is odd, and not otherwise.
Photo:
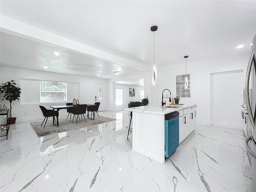
[(132, 151), (128, 111), (99, 115), (116, 121), (42, 138), (30, 122), (12, 125), (0, 139), (0, 191), (251, 192), (242, 130), (197, 125), (162, 164)]

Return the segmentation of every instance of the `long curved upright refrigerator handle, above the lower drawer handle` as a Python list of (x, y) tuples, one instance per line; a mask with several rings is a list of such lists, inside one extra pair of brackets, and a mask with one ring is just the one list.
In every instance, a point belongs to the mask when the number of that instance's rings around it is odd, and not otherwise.
[(249, 120), (250, 120), (250, 122), (252, 122), (252, 127), (255, 129), (256, 118), (252, 114), (252, 109), (251, 109), (250, 100), (249, 100), (249, 79), (250, 79), (250, 73), (251, 73), (253, 61), (256, 62), (256, 60), (254, 58), (254, 50), (252, 51), (252, 56), (250, 58), (250, 61), (249, 61), (249, 64), (248, 64), (248, 68), (247, 68), (247, 72), (246, 72), (246, 79), (245, 79), (245, 104), (246, 104), (248, 115), (249, 115), (249, 118), (250, 118)]

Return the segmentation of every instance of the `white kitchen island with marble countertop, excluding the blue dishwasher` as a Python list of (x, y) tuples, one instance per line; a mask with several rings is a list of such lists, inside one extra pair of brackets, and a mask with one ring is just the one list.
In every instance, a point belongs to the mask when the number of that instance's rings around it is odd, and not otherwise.
[(175, 111), (179, 116), (179, 141), (182, 142), (196, 124), (196, 104), (180, 105), (178, 108), (167, 106), (140, 106), (125, 108), (132, 111), (132, 150), (165, 162), (165, 114)]

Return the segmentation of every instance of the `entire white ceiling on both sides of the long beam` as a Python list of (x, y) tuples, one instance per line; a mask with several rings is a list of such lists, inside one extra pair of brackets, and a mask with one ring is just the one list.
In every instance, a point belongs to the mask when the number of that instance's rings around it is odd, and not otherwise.
[[(2, 16), (142, 64), (143, 70), (150, 70), (153, 65), (154, 32), (150, 31), (153, 25), (158, 26), (156, 66), (184, 63), (185, 55), (189, 56), (189, 64), (248, 53), (256, 33), (256, 1), (1, 0), (0, 3)], [(96, 58), (50, 43), (1, 32), (1, 66), (44, 70), (42, 66), (48, 64), (48, 71), (94, 77), (100, 73), (101, 78), (138, 70), (127, 63)], [(237, 49), (240, 44), (244, 48)], [(58, 58), (52, 54), (55, 50), (61, 53)], [(90, 64), (101, 70), (77, 72), (68, 68), (70, 64)], [(120, 69), (119, 74), (113, 73), (116, 69)]]

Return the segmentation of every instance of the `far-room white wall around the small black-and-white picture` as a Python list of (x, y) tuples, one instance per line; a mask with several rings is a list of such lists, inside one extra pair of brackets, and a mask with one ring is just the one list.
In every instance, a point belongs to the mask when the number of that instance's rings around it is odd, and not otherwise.
[[(130, 101), (140, 101), (140, 90), (144, 90), (144, 87), (142, 86), (134, 86), (134, 85), (122, 85), (122, 84), (116, 84), (116, 88), (123, 89), (123, 104), (122, 105), (116, 105), (116, 110), (123, 110), (124, 108), (128, 108), (128, 103)], [(135, 89), (135, 97), (129, 96), (129, 88)]]

